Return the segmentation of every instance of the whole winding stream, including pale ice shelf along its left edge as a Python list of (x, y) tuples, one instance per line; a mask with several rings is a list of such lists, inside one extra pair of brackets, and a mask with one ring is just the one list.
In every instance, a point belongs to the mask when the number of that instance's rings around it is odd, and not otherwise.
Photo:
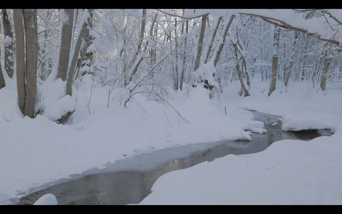
[[(108, 166), (71, 176), (71, 181), (51, 186), (21, 199), (19, 204), (33, 204), (42, 195), (51, 193), (59, 205), (137, 204), (149, 193), (154, 182), (163, 174), (185, 169), (204, 161), (213, 161), (228, 154), (250, 154), (265, 150), (283, 139), (311, 140), (330, 136), (330, 130), (285, 132), (279, 116), (253, 112), (257, 121), (265, 123), (267, 133), (253, 133), (251, 141), (221, 141), (189, 145), (137, 155)], [(266, 124), (269, 121), (268, 124)], [(279, 125), (272, 126), (274, 122)], [(70, 179), (69, 179), (70, 180)], [(63, 182), (63, 181), (61, 181)]]

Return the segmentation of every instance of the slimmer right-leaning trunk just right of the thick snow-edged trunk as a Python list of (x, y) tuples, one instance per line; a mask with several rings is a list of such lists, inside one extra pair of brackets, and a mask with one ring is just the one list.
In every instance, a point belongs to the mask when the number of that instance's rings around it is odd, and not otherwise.
[(69, 75), (67, 77), (67, 83), (66, 83), (66, 93), (67, 95), (70, 95), (70, 96), (73, 94), (72, 85), (73, 85), (73, 80), (74, 80), (74, 72), (75, 72), (78, 55), (80, 54), (82, 40), (86, 32), (87, 34), (89, 34), (89, 28), (88, 28), (89, 19), (90, 19), (89, 11), (88, 9), (85, 9), (81, 17), (80, 32), (78, 33), (78, 37), (75, 40), (76, 44), (75, 46), (73, 46), (73, 51), (71, 54), (72, 60), (71, 60), (71, 63), (69, 63), (70, 66), (69, 66)]

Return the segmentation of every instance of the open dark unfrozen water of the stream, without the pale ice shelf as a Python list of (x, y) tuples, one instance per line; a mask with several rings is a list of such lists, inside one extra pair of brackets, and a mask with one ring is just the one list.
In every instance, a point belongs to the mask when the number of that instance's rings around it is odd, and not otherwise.
[[(38, 191), (23, 198), (20, 204), (33, 204), (38, 198), (47, 193), (54, 194), (58, 204), (61, 205), (137, 204), (150, 193), (154, 182), (167, 172), (188, 168), (204, 161), (213, 161), (215, 158), (228, 154), (239, 155), (260, 152), (273, 142), (283, 139), (310, 140), (320, 136), (331, 135), (329, 130), (281, 131), (281, 121), (279, 121), (278, 116), (258, 112), (253, 112), (253, 114), (255, 120), (265, 123), (270, 121), (270, 123), (265, 124), (267, 133), (254, 133), (251, 141), (222, 141), (212, 148), (194, 152), (185, 158), (170, 159), (171, 161), (168, 163), (161, 163), (160, 166), (156, 166), (153, 169), (128, 169), (128, 171), (88, 175)], [(274, 122), (277, 122), (279, 125), (272, 126), (271, 124)], [(154, 161), (157, 162), (158, 155), (154, 156)]]

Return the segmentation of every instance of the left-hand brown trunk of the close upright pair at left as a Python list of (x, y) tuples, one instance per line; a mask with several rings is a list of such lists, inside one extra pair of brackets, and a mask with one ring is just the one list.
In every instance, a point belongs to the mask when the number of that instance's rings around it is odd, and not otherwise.
[(25, 45), (23, 27), (23, 9), (13, 9), (16, 49), (16, 75), (19, 108), (24, 114), (25, 107)]

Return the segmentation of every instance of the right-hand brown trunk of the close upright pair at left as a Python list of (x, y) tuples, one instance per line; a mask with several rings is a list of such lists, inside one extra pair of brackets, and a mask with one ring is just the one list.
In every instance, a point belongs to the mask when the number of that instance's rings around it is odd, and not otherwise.
[(34, 118), (38, 62), (37, 9), (23, 9), (23, 12), (26, 37), (26, 97), (24, 114)]

